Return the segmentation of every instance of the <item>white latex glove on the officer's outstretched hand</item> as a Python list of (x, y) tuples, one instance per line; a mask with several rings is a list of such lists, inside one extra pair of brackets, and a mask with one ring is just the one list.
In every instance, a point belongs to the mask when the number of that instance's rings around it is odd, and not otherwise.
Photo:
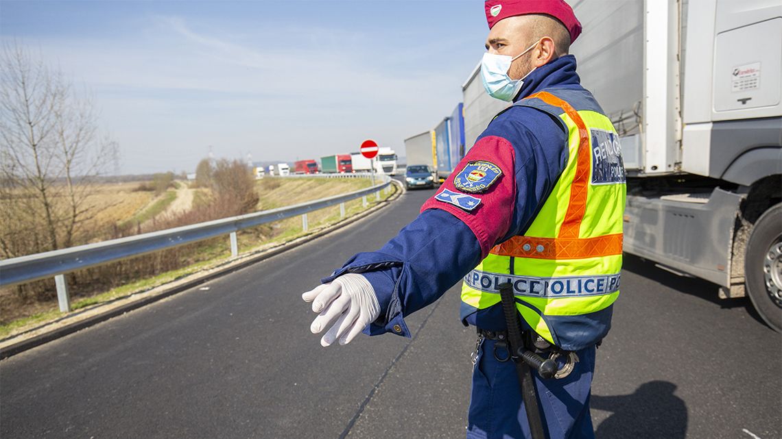
[(319, 312), (310, 325), (312, 334), (318, 334), (334, 323), (321, 338), (324, 347), (338, 338), (339, 344), (350, 343), (380, 315), (375, 288), (361, 274), (343, 274), (329, 284), (307, 291), (301, 298), (304, 302), (312, 302), (312, 310)]

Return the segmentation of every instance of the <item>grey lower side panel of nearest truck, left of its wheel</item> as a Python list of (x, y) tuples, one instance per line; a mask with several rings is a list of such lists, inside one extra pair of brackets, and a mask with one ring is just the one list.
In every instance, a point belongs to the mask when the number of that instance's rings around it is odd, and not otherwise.
[(734, 227), (744, 195), (719, 187), (703, 195), (628, 194), (624, 252), (730, 287)]

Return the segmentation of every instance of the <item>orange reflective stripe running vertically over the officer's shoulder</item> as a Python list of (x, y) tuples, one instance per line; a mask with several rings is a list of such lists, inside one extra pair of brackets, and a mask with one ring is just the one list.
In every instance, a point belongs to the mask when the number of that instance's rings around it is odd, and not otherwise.
[(579, 128), (579, 150), (576, 152), (576, 176), (570, 186), (570, 201), (565, 212), (565, 220), (559, 229), (559, 237), (577, 238), (581, 228), (581, 219), (587, 210), (587, 186), (590, 174), (589, 131), (579, 113), (568, 102), (551, 95), (546, 91), (540, 91), (529, 98), (538, 98), (548, 105), (559, 107), (570, 117), (570, 120)]

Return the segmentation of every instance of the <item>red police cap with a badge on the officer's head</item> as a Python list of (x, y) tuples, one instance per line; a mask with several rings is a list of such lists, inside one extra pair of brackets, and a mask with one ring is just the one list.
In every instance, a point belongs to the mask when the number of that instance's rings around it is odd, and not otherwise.
[(489, 29), (498, 21), (509, 16), (546, 14), (565, 25), (570, 33), (570, 42), (581, 34), (581, 23), (565, 0), (486, 0), (486, 21)]

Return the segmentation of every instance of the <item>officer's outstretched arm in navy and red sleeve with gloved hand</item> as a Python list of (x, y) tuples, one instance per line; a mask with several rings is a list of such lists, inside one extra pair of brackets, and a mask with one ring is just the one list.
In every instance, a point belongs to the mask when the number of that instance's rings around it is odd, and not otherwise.
[[(498, 117), (412, 223), (378, 251), (354, 255), (322, 281), (341, 284), (340, 277), (349, 273), (361, 280), (352, 287), (317, 287), (304, 294), (320, 313), (310, 327), (314, 333), (336, 322), (321, 344), (338, 339), (345, 344), (361, 330), (409, 337), (405, 316), (435, 302), (495, 244), (526, 230), (567, 159), (562, 130), (542, 112), (526, 111), (524, 120), (553, 128), (547, 131), (551, 138), (541, 141), (524, 124)], [(322, 291), (329, 294), (321, 297)], [(374, 300), (376, 308), (353, 309)], [(366, 317), (353, 317), (360, 315)]]

